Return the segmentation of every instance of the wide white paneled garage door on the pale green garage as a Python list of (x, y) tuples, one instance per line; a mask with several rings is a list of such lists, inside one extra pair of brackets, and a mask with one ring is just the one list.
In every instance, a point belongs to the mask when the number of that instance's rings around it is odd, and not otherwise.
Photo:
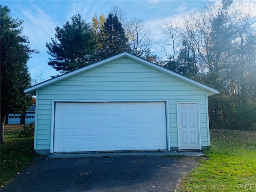
[(54, 152), (166, 150), (165, 102), (57, 102)]

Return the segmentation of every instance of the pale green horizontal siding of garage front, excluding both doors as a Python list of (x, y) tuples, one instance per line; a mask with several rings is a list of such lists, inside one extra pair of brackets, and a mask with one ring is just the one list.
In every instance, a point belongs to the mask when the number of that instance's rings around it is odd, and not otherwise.
[(164, 101), (169, 146), (178, 147), (177, 102), (197, 102), (201, 146), (209, 146), (207, 91), (128, 58), (106, 63), (36, 90), (35, 150), (51, 148), (54, 102)]

